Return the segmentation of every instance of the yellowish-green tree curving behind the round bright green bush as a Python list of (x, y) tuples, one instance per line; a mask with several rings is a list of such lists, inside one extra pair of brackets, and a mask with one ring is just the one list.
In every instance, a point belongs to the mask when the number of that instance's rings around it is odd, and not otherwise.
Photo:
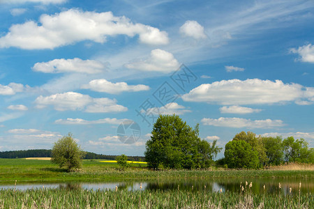
[(240, 132), (236, 134), (232, 140), (243, 140), (251, 145), (252, 150), (256, 150), (258, 153), (259, 167), (263, 167), (267, 164), (268, 159), (266, 155), (266, 149), (262, 142), (262, 137), (256, 137), (256, 134), (253, 132)]

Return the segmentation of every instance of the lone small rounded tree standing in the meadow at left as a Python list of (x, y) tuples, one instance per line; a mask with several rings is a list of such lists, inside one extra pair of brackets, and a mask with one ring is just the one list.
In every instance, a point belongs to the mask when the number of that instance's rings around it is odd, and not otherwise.
[(60, 168), (66, 167), (68, 172), (80, 169), (83, 157), (84, 151), (77, 145), (70, 133), (55, 142), (52, 148), (51, 161), (59, 164)]

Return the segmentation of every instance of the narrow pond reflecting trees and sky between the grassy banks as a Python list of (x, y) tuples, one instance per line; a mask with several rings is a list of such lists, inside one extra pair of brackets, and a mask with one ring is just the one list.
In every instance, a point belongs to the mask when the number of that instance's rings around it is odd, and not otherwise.
[[(246, 185), (246, 181), (248, 185)], [(249, 188), (252, 182), (252, 187)], [(0, 189), (36, 189), (36, 188), (54, 188), (54, 189), (128, 189), (128, 190), (138, 190), (140, 185), (142, 189), (162, 189), (162, 190), (206, 190), (207, 192), (219, 192), (220, 189), (223, 192), (240, 192), (243, 185), (244, 188), (251, 189), (254, 194), (260, 194), (263, 192), (278, 194), (279, 191), (283, 194), (288, 194), (290, 187), (293, 193), (299, 193), (299, 183), (301, 182), (301, 193), (314, 193), (314, 179), (304, 178), (304, 179), (273, 179), (273, 178), (262, 178), (262, 179), (157, 179), (157, 180), (135, 180), (135, 181), (125, 181), (125, 182), (98, 182), (98, 183), (86, 183), (86, 182), (71, 182), (71, 183), (18, 183), (17, 185), (0, 185)], [(279, 188), (279, 183), (281, 188)], [(265, 185), (265, 189), (264, 189)], [(206, 186), (206, 187), (205, 187)]]

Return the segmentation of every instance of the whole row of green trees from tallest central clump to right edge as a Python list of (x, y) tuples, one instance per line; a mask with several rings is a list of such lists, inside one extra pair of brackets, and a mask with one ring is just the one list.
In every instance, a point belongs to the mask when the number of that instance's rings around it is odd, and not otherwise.
[(240, 132), (225, 145), (225, 157), (214, 162), (222, 150), (217, 140), (209, 143), (199, 137), (199, 125), (193, 129), (177, 115), (160, 115), (146, 143), (144, 153), (151, 169), (198, 169), (214, 164), (227, 168), (260, 169), (289, 162), (314, 163), (314, 149), (294, 137), (261, 137)]

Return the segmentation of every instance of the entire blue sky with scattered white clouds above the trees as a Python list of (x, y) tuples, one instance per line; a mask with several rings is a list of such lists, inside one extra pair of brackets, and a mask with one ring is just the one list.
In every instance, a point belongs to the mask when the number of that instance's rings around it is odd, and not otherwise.
[[(314, 1), (0, 0), (0, 151), (144, 155), (158, 114), (314, 146)], [(223, 152), (218, 155), (222, 157)]]

